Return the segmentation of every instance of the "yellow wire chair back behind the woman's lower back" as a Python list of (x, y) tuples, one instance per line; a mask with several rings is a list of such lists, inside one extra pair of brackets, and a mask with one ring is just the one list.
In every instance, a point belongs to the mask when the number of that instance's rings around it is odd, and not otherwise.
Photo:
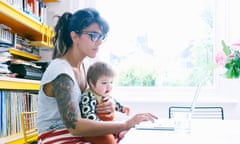
[(21, 126), (24, 137), (24, 144), (37, 143), (38, 130), (36, 128), (37, 111), (22, 112)]

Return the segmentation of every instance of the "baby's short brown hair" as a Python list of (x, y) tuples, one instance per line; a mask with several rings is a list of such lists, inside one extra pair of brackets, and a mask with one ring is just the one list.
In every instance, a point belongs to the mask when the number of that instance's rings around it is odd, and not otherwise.
[(97, 80), (101, 76), (114, 77), (115, 72), (110, 65), (105, 62), (95, 62), (93, 63), (87, 71), (87, 82), (90, 85), (90, 81), (93, 85), (96, 85)]

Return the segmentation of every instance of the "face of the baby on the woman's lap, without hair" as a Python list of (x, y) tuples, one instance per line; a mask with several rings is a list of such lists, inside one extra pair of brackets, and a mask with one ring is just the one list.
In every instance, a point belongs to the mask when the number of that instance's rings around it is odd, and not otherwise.
[(108, 97), (112, 91), (113, 77), (101, 76), (96, 82), (96, 85), (91, 84), (92, 90), (101, 96)]

